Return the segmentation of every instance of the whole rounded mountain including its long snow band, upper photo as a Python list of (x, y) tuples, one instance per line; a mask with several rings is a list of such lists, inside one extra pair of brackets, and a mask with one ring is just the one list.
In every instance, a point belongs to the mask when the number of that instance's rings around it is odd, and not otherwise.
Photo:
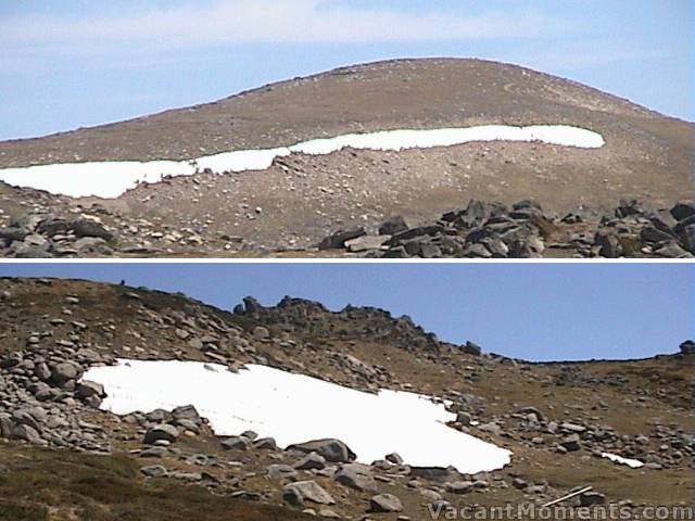
[[(462, 129), (469, 138), (451, 134)], [(62, 214), (77, 202), (61, 194), (106, 193), (79, 204), (138, 228), (124, 238), (134, 252), (253, 255), (306, 250), (340, 228), (376, 231), (393, 215), (431, 223), (470, 200), (534, 200), (563, 214), (633, 199), (670, 208), (694, 195), (694, 142), (690, 123), (547, 74), (397, 60), (2, 142), (0, 179), (25, 188), (0, 183), (0, 206), (10, 217), (21, 209), (9, 200)], [(33, 187), (54, 193), (37, 200)]]

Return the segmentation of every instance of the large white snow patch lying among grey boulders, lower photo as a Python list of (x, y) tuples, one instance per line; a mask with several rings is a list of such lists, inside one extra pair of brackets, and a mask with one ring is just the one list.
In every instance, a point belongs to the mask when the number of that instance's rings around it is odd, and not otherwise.
[(217, 435), (253, 430), (281, 447), (334, 437), (370, 463), (396, 452), (420, 467), (476, 473), (509, 462), (509, 450), (445, 424), (454, 414), (427, 396), (356, 391), (316, 378), (249, 365), (238, 373), (198, 361), (118, 360), (85, 374), (104, 385), (102, 409), (117, 415), (193, 405)]

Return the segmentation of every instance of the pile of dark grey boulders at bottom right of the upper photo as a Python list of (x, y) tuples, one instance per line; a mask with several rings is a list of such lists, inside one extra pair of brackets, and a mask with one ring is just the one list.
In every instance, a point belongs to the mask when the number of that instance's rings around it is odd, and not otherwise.
[(611, 214), (580, 207), (560, 217), (529, 200), (511, 207), (470, 201), (426, 226), (408, 227), (397, 216), (384, 221), (377, 234), (365, 228), (340, 230), (319, 249), (383, 258), (692, 258), (695, 204), (650, 212), (626, 201)]

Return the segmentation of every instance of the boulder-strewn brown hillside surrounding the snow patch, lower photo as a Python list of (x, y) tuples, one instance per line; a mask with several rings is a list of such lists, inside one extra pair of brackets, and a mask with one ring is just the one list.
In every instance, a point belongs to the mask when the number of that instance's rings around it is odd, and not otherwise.
[[(112, 504), (126, 486), (189, 501), (162, 507), (175, 511), (210, 504), (195, 519), (228, 519), (211, 510), (224, 505), (239, 519), (420, 520), (428, 508), (542, 505), (582, 486), (593, 490), (569, 505), (636, 512), (686, 505), (694, 491), (691, 341), (645, 360), (529, 364), (441, 342), (380, 309), (333, 313), (289, 297), (265, 307), (249, 297), (226, 313), (182, 295), (48, 279), (0, 280), (0, 505), (30, 512), (0, 510), (0, 519), (141, 519), (136, 505), (149, 496)], [(278, 447), (254, 432), (216, 436), (192, 406), (118, 417), (99, 410), (101, 385), (80, 380), (117, 357), (235, 371), (264, 364), (364, 391), (450, 399), (451, 428), (510, 449), (511, 463), (475, 475), (412, 467), (397, 454), (361, 463), (340, 440)], [(630, 469), (602, 453), (645, 465)], [(75, 469), (77, 455), (85, 458), (79, 475), (58, 472), (16, 490), (29, 472), (48, 472), (53, 455)], [(102, 490), (84, 486), (90, 480)], [(207, 499), (193, 499), (205, 491)], [(248, 513), (261, 507), (277, 510)], [(190, 519), (176, 516), (162, 519)]]

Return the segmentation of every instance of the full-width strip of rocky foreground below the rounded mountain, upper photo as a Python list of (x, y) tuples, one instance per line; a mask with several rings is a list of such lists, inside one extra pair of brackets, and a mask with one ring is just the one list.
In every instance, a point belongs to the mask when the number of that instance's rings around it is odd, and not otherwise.
[[(18, 191), (18, 190), (17, 190)], [(25, 193), (25, 191), (22, 191)], [(695, 203), (649, 209), (623, 201), (612, 212), (579, 206), (545, 212), (531, 200), (510, 206), (471, 200), (431, 223), (394, 216), (372, 226), (348, 227), (313, 245), (258, 244), (188, 226), (132, 218), (99, 203), (36, 192), (31, 209), (0, 208), (0, 256), (15, 258), (142, 256), (344, 256), (367, 258), (692, 258)], [(257, 208), (261, 213), (262, 209)], [(20, 217), (11, 217), (11, 215)], [(311, 238), (301, 243), (311, 244)]]

